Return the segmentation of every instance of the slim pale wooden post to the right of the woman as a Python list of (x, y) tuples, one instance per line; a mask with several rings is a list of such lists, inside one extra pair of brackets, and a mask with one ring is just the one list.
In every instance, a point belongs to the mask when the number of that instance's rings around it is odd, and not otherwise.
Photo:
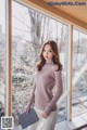
[(72, 66), (73, 66), (73, 25), (69, 25), (69, 60), (67, 60), (67, 120), (72, 120)]

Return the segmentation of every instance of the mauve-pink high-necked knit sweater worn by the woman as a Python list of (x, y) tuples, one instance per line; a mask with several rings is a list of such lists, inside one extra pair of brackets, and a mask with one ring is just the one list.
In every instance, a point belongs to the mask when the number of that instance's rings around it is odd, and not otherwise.
[[(29, 107), (35, 103), (35, 106), (44, 109), (47, 115), (55, 109), (57, 101), (63, 93), (62, 74), (61, 70), (57, 69), (58, 66), (53, 63), (46, 63), (42, 69), (36, 74)], [(52, 89), (54, 87), (55, 91), (53, 94)]]

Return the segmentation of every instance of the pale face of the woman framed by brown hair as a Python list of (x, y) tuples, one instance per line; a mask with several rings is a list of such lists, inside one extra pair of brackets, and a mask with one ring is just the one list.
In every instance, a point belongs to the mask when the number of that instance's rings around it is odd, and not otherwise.
[(46, 44), (42, 51), (44, 58), (46, 61), (51, 61), (53, 57), (53, 51), (50, 44)]

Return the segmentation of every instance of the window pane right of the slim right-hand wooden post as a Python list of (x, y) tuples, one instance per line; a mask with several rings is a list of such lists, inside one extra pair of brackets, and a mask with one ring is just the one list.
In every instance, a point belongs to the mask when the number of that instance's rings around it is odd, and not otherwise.
[(74, 29), (73, 116), (87, 112), (87, 35)]

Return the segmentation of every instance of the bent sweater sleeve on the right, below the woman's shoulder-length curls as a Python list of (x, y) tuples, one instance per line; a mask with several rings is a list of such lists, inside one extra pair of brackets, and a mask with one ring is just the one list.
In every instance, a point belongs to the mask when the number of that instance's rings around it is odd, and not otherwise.
[(58, 68), (55, 66), (53, 69), (54, 70), (54, 79), (55, 79), (55, 92), (54, 92), (52, 100), (45, 107), (45, 112), (47, 113), (47, 115), (50, 114), (53, 105), (55, 105), (57, 101), (60, 99), (60, 96), (63, 93), (62, 74), (61, 74), (61, 70), (57, 70), (57, 69)]

